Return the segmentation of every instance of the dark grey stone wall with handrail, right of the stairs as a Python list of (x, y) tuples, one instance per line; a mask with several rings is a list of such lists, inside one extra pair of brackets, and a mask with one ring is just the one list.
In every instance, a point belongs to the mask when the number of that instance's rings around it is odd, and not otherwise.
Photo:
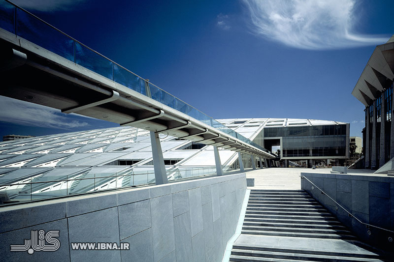
[[(394, 231), (394, 177), (311, 173), (301, 175), (311, 180), (362, 222)], [(306, 179), (301, 179), (301, 189), (323, 204), (363, 241), (378, 247), (394, 247), (394, 242), (389, 241), (389, 237), (394, 239), (394, 233), (367, 228), (315, 186), (312, 189), (312, 186)]]

